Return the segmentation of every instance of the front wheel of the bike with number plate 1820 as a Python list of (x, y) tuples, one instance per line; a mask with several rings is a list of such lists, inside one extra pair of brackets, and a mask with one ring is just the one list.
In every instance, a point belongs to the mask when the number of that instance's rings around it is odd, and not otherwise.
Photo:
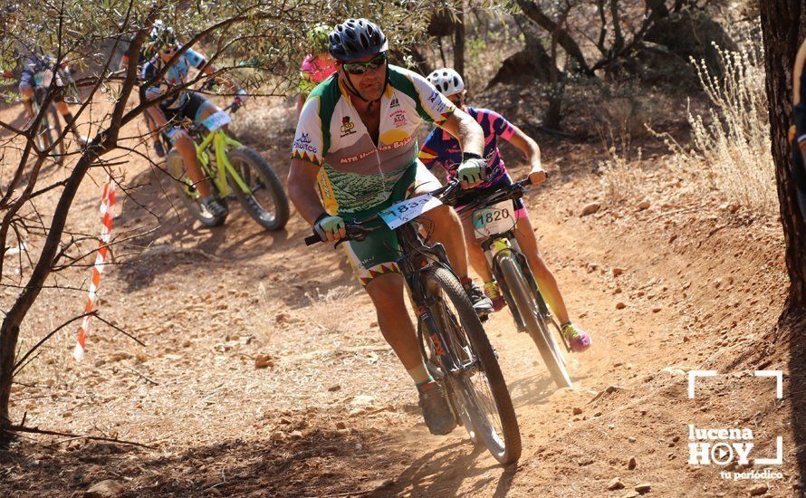
[(570, 388), (571, 378), (568, 370), (565, 369), (565, 360), (562, 358), (560, 346), (554, 340), (552, 331), (543, 320), (537, 304), (537, 296), (526, 277), (523, 275), (521, 265), (515, 261), (513, 254), (506, 254), (498, 258), (497, 266), (504, 278), (505, 292), (512, 297), (512, 302), (517, 308), (517, 313), (526, 325), (526, 331), (532, 337), (537, 350), (549, 373), (552, 374), (554, 383), (559, 388)]

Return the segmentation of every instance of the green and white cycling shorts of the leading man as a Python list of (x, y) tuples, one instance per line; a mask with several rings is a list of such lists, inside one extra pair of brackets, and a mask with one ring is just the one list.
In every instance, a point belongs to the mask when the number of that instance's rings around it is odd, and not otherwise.
[[(415, 161), (395, 184), (386, 202), (360, 213), (344, 215), (344, 218), (346, 221), (367, 218), (399, 201), (431, 192), (440, 186), (437, 177), (420, 161)], [(353, 273), (365, 287), (379, 275), (400, 272), (398, 263), (395, 263), (400, 257), (398, 236), (382, 221), (379, 220), (378, 225), (380, 228), (368, 232), (364, 240), (342, 244)]]

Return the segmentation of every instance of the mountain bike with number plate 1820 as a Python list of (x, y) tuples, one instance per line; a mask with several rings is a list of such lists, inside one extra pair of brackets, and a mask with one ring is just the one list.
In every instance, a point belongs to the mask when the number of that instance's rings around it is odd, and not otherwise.
[(523, 197), (524, 187), (529, 185), (531, 182), (526, 178), (474, 199), (457, 212), (472, 213), (475, 237), (481, 240), (487, 262), (512, 311), (518, 331), (525, 330), (532, 337), (557, 386), (570, 388), (571, 378), (565, 368), (565, 359), (549, 324), (560, 335), (566, 351), (571, 351), (571, 348), (546, 306), (526, 256), (515, 239), (517, 220), (513, 203)]

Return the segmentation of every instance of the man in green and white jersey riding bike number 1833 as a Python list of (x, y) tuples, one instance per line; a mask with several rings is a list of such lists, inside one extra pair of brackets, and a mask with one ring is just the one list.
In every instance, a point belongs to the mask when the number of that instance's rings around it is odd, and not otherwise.
[[(387, 62), (389, 43), (378, 25), (349, 19), (329, 37), (338, 72), (322, 81), (302, 107), (293, 142), (288, 192), (322, 240), (339, 240), (345, 222), (373, 215), (408, 196), (435, 190), (439, 181), (417, 159), (417, 130), (434, 122), (464, 146), (458, 168), (463, 187), (481, 181), (484, 132), (425, 78)], [(449, 206), (423, 217), (446, 252), (476, 311), (492, 302), (467, 278), (462, 225)], [(395, 260), (398, 241), (385, 226), (363, 241), (343, 244), (356, 276), (375, 304), (384, 338), (417, 385), (432, 434), (447, 434), (456, 419), (423, 364)]]

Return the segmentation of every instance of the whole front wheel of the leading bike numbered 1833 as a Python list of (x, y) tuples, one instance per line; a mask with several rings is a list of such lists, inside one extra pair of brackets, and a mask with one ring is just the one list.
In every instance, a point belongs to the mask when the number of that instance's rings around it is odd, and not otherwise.
[(446, 348), (461, 367), (445, 372), (457, 415), (471, 438), (481, 440), (502, 464), (512, 464), (521, 456), (521, 431), (493, 346), (453, 273), (439, 267), (425, 273), (424, 280), (427, 292), (437, 298), (432, 310)]

